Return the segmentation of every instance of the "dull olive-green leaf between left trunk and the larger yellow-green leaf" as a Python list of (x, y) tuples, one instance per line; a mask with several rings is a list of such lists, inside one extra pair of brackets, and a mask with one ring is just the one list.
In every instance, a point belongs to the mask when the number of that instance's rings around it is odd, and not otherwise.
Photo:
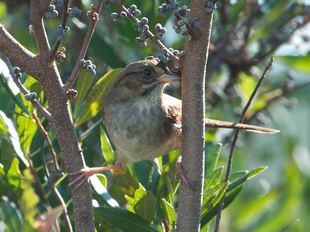
[(93, 76), (86, 72), (85, 69), (82, 69), (78, 75), (78, 82), (77, 82), (77, 91), (78, 96), (75, 99), (75, 108), (74, 108), (74, 118), (78, 115), (78, 108), (80, 107), (81, 103), (83, 102), (87, 91), (93, 85)]

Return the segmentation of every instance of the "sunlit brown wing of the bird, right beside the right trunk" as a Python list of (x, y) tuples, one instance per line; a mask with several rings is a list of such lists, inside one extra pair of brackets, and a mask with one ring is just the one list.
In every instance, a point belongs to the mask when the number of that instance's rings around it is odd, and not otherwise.
[(168, 119), (171, 124), (181, 128), (182, 126), (182, 101), (171, 97), (168, 94), (163, 94), (163, 105), (168, 111)]

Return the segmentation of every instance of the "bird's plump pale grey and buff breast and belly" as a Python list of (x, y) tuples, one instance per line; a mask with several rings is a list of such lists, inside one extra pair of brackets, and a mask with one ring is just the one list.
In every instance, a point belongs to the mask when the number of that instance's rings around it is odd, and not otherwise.
[(104, 109), (109, 136), (128, 160), (153, 160), (181, 147), (181, 132), (160, 105), (143, 101), (111, 103)]

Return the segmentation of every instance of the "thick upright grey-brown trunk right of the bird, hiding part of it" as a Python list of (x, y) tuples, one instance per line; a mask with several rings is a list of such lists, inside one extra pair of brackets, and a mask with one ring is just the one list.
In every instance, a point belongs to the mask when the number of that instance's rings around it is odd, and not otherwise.
[[(213, 1), (214, 2), (214, 1)], [(181, 179), (178, 232), (200, 231), (204, 174), (205, 73), (213, 13), (206, 13), (205, 0), (191, 1), (189, 17), (199, 18), (201, 27), (186, 41), (182, 58), (182, 170), (190, 185)]]

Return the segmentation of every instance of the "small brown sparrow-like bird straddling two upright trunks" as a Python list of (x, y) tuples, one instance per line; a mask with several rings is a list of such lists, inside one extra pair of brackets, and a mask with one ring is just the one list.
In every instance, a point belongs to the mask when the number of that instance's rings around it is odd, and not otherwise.
[[(182, 101), (164, 93), (172, 81), (180, 80), (168, 66), (157, 58), (130, 63), (118, 75), (109, 89), (103, 105), (103, 122), (117, 150), (115, 165), (85, 168), (70, 173), (79, 174), (69, 183), (78, 188), (96, 172), (123, 169), (128, 162), (154, 160), (172, 150), (181, 149)], [(210, 128), (233, 128), (258, 133), (278, 130), (241, 123), (205, 119)], [(181, 177), (181, 159), (177, 170)]]

